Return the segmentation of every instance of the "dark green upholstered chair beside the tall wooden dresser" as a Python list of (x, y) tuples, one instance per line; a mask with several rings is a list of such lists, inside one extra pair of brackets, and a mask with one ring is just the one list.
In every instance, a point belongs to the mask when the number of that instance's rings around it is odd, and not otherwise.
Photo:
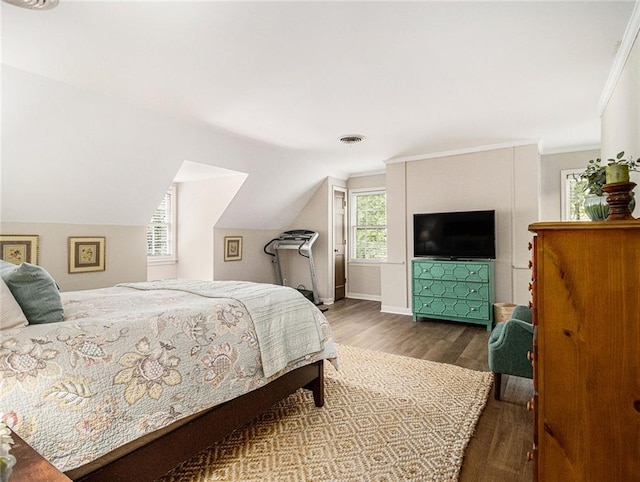
[(533, 378), (527, 352), (533, 351), (531, 309), (518, 305), (511, 318), (498, 323), (489, 337), (489, 369), (493, 372), (494, 397), (500, 400), (502, 375)]

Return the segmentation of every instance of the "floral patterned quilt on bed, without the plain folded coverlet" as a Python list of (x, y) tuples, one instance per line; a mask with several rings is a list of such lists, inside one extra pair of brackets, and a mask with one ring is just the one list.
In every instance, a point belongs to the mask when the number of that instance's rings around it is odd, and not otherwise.
[(337, 357), (327, 320), (307, 302), (321, 349), (267, 378), (253, 302), (144, 288), (62, 293), (65, 321), (0, 332), (2, 419), (62, 471)]

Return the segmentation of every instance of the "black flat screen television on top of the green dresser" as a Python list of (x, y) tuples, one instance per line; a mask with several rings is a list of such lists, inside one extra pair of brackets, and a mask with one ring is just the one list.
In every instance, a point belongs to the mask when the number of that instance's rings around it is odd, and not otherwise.
[(495, 211), (413, 215), (413, 255), (449, 259), (495, 259)]

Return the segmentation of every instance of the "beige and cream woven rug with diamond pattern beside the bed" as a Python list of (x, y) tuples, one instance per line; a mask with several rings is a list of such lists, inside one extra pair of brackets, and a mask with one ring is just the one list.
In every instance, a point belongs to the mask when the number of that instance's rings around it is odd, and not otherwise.
[(325, 406), (299, 390), (163, 482), (455, 481), (491, 375), (341, 345)]

